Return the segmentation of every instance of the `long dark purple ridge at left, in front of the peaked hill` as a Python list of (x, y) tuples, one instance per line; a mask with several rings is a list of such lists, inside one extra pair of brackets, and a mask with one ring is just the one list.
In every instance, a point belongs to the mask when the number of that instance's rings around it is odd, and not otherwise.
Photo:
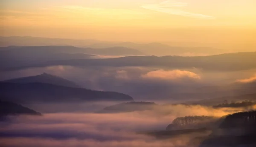
[(131, 96), (118, 92), (103, 92), (44, 83), (0, 82), (0, 96), (12, 98), (8, 101), (20, 104), (30, 102), (133, 101)]

